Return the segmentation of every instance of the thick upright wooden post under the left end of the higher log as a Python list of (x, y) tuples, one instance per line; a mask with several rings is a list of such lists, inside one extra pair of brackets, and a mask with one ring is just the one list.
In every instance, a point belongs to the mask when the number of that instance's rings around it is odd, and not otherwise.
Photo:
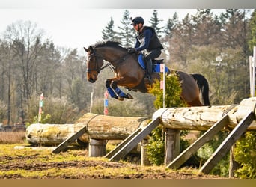
[(165, 129), (165, 165), (180, 153), (180, 130)]

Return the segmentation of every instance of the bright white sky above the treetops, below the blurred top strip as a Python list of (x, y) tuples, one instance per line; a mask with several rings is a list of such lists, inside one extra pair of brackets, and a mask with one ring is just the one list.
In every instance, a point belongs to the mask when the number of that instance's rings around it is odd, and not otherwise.
[[(44, 37), (49, 38), (56, 46), (82, 48), (102, 40), (103, 28), (114, 19), (115, 28), (121, 25), (125, 9), (0, 9), (0, 34), (6, 31), (7, 25), (19, 20), (36, 22), (37, 28), (43, 29)], [(142, 16), (145, 25), (153, 16), (153, 9), (127, 9), (130, 16)], [(165, 25), (176, 11), (180, 19), (187, 13), (195, 14), (196, 9), (156, 9), (159, 19)], [(132, 27), (132, 25), (131, 25)]]

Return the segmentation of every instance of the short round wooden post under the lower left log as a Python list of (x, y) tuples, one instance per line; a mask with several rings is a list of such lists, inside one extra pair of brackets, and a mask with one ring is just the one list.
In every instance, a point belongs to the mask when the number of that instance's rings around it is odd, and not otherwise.
[(105, 140), (89, 140), (89, 157), (105, 156), (106, 141)]

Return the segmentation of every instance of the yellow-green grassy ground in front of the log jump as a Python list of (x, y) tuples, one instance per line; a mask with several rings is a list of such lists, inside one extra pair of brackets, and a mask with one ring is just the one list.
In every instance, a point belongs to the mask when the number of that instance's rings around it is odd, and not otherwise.
[[(218, 178), (199, 174), (192, 168), (173, 171), (165, 166), (141, 166), (124, 161), (109, 162), (104, 157), (88, 157), (88, 150), (81, 147), (54, 154), (52, 150), (40, 149), (41, 147), (31, 149), (24, 139), (24, 132), (2, 133), (0, 134), (0, 179)], [(20, 146), (25, 148), (16, 149)], [(109, 147), (112, 146), (107, 146), (107, 151)]]

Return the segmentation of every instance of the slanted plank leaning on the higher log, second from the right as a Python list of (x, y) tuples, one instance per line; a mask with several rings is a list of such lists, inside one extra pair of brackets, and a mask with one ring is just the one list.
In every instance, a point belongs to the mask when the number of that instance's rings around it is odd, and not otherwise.
[(207, 141), (210, 140), (217, 132), (219, 132), (225, 125), (228, 123), (228, 114), (222, 117), (219, 121), (217, 121), (207, 132), (204, 132), (204, 135), (201, 135), (197, 141), (191, 144), (186, 150), (180, 153), (169, 165), (168, 168), (180, 168), (180, 165), (183, 165), (186, 160), (188, 160), (192, 154), (194, 154), (201, 146), (203, 146)]

